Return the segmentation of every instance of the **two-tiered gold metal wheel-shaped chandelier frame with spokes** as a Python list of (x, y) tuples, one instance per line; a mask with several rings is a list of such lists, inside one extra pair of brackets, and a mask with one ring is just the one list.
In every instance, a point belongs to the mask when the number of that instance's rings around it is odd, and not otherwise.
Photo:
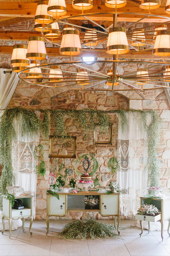
[[(101, 26), (95, 21), (97, 20), (97, 17), (99, 15), (105, 15), (105, 17), (106, 16), (110, 17), (111, 14), (113, 15), (112, 24), (107, 28), (104, 28), (103, 26)], [(123, 19), (123, 17), (125, 16), (127, 18), (128, 15), (130, 17), (131, 15), (134, 15), (134, 14), (136, 15), (137, 18), (134, 20), (133, 23), (129, 24), (126, 27), (126, 30), (127, 30), (126, 35), (127, 35), (128, 42), (131, 42), (131, 41), (141, 42), (140, 40), (143, 40), (143, 38), (138, 37), (137, 40), (134, 40), (133, 32), (137, 32), (143, 29), (145, 32), (146, 43), (145, 43), (145, 46), (142, 46), (142, 47), (140, 46), (135, 47), (129, 43), (130, 52), (137, 53), (137, 52), (152, 51), (154, 41), (155, 41), (154, 27), (158, 25), (168, 24), (170, 21), (169, 17), (163, 16), (163, 15), (154, 15), (151, 13), (132, 13), (132, 12), (127, 13), (127, 12), (117, 12), (117, 11), (108, 12), (108, 13), (88, 13), (84, 15), (82, 14), (82, 15), (70, 16), (70, 17), (67, 17), (67, 20), (65, 18), (62, 18), (62, 19), (53, 21), (51, 23), (48, 23), (43, 27), (41, 31), (41, 35), (45, 38), (46, 41), (59, 47), (61, 44), (62, 33), (64, 31), (63, 26), (64, 25), (72, 26), (75, 28), (75, 30), (79, 30), (80, 42), (82, 44), (82, 50), (84, 52), (106, 52), (106, 42), (107, 42), (107, 37), (109, 33), (109, 28), (116, 27), (119, 19)], [(73, 24), (71, 20), (75, 20), (77, 18), (90, 21), (93, 24), (93, 26), (98, 26), (100, 29), (104, 30), (104, 31), (100, 31), (100, 30), (97, 31), (97, 41), (99, 42), (97, 46), (94, 46), (94, 47), (84, 46), (85, 31), (88, 30), (88, 33), (89, 31), (96, 32), (96, 29)], [(148, 22), (150, 22), (152, 18), (157, 18), (158, 22), (155, 22), (154, 24), (143, 25), (143, 27), (139, 29), (133, 28), (134, 25), (144, 20), (146, 20), (147, 22), (147, 19), (148, 19)], [(162, 20), (163, 22), (160, 22)], [(59, 29), (56, 29), (56, 31), (53, 30), (54, 33), (56, 32), (56, 35), (54, 36), (54, 38), (52, 38), (52, 36), (47, 36), (46, 33), (44, 32), (47, 31), (48, 29), (51, 30), (51, 24), (54, 22), (58, 22)], [(84, 31), (82, 31), (82, 29), (84, 29)], [(132, 40), (132, 37), (133, 37), (133, 40)], [(93, 40), (93, 33), (92, 33), (91, 42), (95, 42), (95, 41), (96, 39)], [(75, 61), (74, 60), (75, 57), (70, 56), (70, 60), (67, 62), (61, 61), (53, 64), (37, 65), (36, 67), (40, 68), (40, 72), (37, 74), (41, 75), (41, 77), (39, 77), (38, 79), (34, 79), (34, 78), (28, 79), (26, 77), (25, 73), (28, 71), (31, 73), (32, 68), (26, 68), (20, 71), (18, 73), (18, 77), (30, 84), (41, 85), (45, 87), (67, 89), (67, 90), (72, 89), (72, 90), (96, 90), (96, 91), (125, 91), (125, 90), (142, 91), (142, 90), (150, 90), (150, 89), (169, 88), (169, 86), (167, 85), (167, 82), (165, 81), (166, 78), (167, 79), (169, 78), (169, 75), (163, 75), (163, 73), (165, 72), (166, 66), (169, 65), (169, 58), (166, 57), (165, 59), (165, 57), (162, 57), (162, 61), (160, 61), (160, 57), (156, 58), (156, 56), (154, 57), (152, 56), (152, 59), (146, 58), (146, 60), (141, 61), (140, 57), (133, 60), (132, 59), (133, 55), (128, 55), (128, 54), (125, 54), (125, 55), (117, 54), (117, 55), (111, 55), (111, 56), (112, 56), (112, 60), (95, 61), (95, 64), (99, 64), (99, 65), (104, 64), (104, 65), (107, 65), (106, 69), (112, 69), (111, 76), (107, 75), (106, 72), (104, 73), (104, 72), (95, 71), (93, 70), (93, 66), (89, 66), (82, 61)], [(66, 58), (67, 56), (62, 56), (62, 57)], [(76, 59), (77, 59), (77, 56), (76, 56)], [(143, 64), (145, 67), (142, 68), (141, 71), (147, 70), (148, 75), (145, 75), (145, 74), (137, 75), (138, 69), (122, 75), (117, 74), (117, 69), (119, 66), (124, 64), (130, 64), (130, 63), (136, 64), (136, 65)], [(59, 70), (62, 72), (62, 79), (59, 79), (58, 82), (56, 82), (56, 79), (51, 79), (48, 77), (50, 69), (56, 70), (53, 67), (56, 65), (60, 67)], [(78, 69), (85, 69), (88, 75), (86, 75), (86, 77), (84, 78), (84, 75), (82, 73), (79, 73)], [(51, 71), (50, 77), (51, 75), (55, 75), (55, 73), (53, 74)], [(79, 77), (79, 80), (76, 79), (77, 75)], [(55, 82), (53, 80), (55, 80)], [(111, 86), (107, 85), (106, 83), (111, 84)]]

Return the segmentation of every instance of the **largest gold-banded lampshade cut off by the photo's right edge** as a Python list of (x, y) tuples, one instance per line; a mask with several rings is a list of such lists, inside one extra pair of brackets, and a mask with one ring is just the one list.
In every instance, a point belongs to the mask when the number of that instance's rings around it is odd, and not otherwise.
[(170, 30), (159, 30), (154, 43), (153, 54), (158, 56), (170, 55)]

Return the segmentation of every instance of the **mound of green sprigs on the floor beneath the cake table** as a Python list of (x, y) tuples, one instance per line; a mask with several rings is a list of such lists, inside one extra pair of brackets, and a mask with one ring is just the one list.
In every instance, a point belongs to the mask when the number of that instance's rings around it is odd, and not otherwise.
[(114, 226), (104, 224), (96, 220), (75, 220), (64, 226), (62, 231), (54, 235), (62, 239), (95, 239), (95, 238), (118, 238), (112, 230)]

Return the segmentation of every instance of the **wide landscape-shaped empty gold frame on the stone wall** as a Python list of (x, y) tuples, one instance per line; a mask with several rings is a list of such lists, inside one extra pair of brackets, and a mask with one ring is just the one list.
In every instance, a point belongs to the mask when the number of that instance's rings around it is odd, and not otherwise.
[(76, 158), (76, 136), (49, 136), (49, 156)]

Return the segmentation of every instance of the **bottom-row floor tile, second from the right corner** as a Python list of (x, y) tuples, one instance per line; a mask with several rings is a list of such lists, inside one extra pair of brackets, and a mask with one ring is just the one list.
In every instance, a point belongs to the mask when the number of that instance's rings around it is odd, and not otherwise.
[(129, 256), (125, 245), (89, 245), (90, 256)]

